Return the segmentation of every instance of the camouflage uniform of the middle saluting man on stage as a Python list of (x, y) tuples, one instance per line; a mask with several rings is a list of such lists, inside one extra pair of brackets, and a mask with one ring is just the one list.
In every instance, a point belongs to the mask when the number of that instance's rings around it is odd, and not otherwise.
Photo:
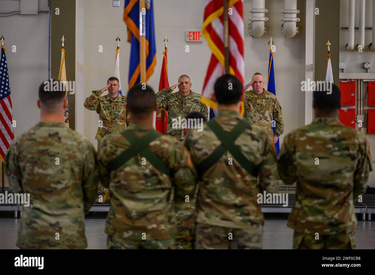
[(180, 117), (180, 121), (192, 111), (198, 111), (205, 115), (208, 119), (207, 106), (201, 103), (201, 95), (190, 90), (190, 94), (183, 96), (180, 92), (172, 93), (171, 88), (165, 88), (156, 93), (156, 102), (159, 108), (164, 108), (168, 112), (168, 127), (166, 135), (174, 136), (178, 140), (184, 140), (182, 127), (173, 129), (172, 119)]

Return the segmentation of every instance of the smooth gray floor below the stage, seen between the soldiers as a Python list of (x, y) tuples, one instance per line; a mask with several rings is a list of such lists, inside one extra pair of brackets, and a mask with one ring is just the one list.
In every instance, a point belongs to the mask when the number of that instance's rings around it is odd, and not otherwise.
[[(105, 219), (86, 219), (88, 249), (106, 249)], [(20, 219), (0, 218), (0, 249), (17, 249), (15, 242)], [(266, 220), (263, 249), (291, 249), (293, 230), (287, 220)], [(356, 242), (360, 249), (375, 249), (375, 221), (358, 221)]]

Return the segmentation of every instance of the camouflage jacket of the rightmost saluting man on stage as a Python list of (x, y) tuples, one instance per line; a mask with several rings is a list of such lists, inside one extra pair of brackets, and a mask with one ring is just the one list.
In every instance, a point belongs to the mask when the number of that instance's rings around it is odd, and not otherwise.
[(273, 93), (263, 89), (263, 93), (256, 94), (253, 90), (245, 91), (245, 112), (243, 118), (252, 121), (269, 134), (273, 140), (272, 120), (275, 120), (275, 134), (284, 133), (284, 121), (279, 100)]

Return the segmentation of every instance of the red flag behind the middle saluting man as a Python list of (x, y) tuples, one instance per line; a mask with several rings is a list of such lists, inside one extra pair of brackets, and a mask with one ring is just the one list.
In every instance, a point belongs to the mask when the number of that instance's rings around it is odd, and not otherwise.
[[(166, 58), (166, 52), (168, 50), (165, 49), (163, 51), (163, 64), (162, 64), (162, 70), (160, 72), (160, 81), (159, 81), (159, 91), (163, 90), (165, 88), (169, 88), (169, 82), (168, 82), (168, 65), (167, 65), (167, 58)], [(157, 109), (156, 112), (156, 121), (155, 121), (155, 128), (158, 132), (165, 135), (166, 127), (168, 126), (168, 112), (165, 111), (165, 109)]]

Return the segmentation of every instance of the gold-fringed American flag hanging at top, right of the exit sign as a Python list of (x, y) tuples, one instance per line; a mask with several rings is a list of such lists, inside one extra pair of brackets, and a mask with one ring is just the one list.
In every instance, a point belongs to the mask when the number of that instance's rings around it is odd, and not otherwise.
[[(225, 73), (223, 1), (205, 0), (202, 34), (212, 51), (204, 80), (201, 101), (216, 109), (211, 100), (216, 79)], [(243, 85), (245, 62), (243, 59), (243, 0), (228, 1), (229, 73), (237, 76)]]

